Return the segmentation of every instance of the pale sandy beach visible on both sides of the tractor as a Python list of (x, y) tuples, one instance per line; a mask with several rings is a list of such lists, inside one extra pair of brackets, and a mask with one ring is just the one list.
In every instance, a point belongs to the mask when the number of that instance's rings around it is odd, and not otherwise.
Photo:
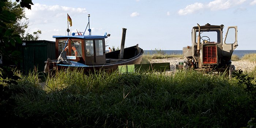
[[(151, 63), (169, 62), (171, 71), (175, 71), (176, 64), (178, 64), (179, 62), (183, 62), (183, 58), (173, 57), (173, 58), (165, 58), (165, 59), (152, 59), (150, 62)], [(236, 70), (241, 69), (243, 71), (245, 71), (245, 70), (251, 71), (256, 66), (256, 62), (253, 63), (253, 62), (249, 62), (246, 60), (240, 60), (240, 61), (232, 61), (232, 65), (235, 66)]]

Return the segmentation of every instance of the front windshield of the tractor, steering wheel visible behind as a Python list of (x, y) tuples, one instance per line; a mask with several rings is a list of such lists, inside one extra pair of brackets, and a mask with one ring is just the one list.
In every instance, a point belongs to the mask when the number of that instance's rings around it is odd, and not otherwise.
[[(200, 30), (201, 43), (221, 43), (220, 30)], [(196, 31), (196, 43), (198, 38), (198, 30)]]

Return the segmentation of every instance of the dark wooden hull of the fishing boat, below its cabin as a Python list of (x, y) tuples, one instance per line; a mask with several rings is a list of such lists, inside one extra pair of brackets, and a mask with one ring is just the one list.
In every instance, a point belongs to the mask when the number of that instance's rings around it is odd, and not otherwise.
[(112, 72), (118, 69), (119, 65), (133, 65), (133, 64), (140, 64), (142, 60), (142, 55), (144, 51), (140, 49), (138, 46), (132, 46), (124, 49), (124, 58), (118, 59), (120, 50), (113, 51), (110, 53), (106, 53), (106, 61), (108, 63), (102, 65), (87, 65), (87, 67), (80, 67), (80, 66), (63, 66), (63, 65), (56, 65), (57, 70), (63, 69), (78, 69), (83, 70), (86, 73), (93, 73), (95, 71), (105, 71), (105, 72)]

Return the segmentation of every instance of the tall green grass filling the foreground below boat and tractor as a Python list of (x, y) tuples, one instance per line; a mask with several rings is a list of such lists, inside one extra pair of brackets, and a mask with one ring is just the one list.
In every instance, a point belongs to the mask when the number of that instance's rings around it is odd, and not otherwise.
[(66, 70), (48, 78), (46, 90), (34, 88), (31, 79), (12, 86), (19, 90), (15, 111), (22, 121), (17, 123), (27, 127), (235, 127), (252, 116), (246, 111), (229, 120), (225, 104), (246, 102), (247, 93), (225, 75)]

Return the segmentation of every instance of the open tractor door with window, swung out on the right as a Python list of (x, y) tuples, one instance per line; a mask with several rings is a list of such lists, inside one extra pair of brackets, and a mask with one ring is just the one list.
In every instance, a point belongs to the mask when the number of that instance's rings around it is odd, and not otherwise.
[(237, 26), (232, 26), (227, 28), (227, 33), (225, 37), (225, 41), (223, 43), (223, 59), (229, 61), (231, 59), (231, 55), (233, 51), (237, 47)]

